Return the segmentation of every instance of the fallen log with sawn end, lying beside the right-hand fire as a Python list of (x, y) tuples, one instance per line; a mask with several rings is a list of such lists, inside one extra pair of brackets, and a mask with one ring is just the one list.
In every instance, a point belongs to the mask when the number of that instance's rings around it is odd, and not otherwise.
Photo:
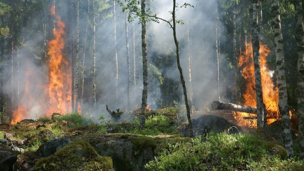
[(250, 106), (241, 106), (233, 103), (224, 103), (219, 101), (213, 101), (213, 103), (211, 104), (211, 108), (213, 110), (233, 110), (252, 114), (257, 113), (257, 108), (253, 108)]

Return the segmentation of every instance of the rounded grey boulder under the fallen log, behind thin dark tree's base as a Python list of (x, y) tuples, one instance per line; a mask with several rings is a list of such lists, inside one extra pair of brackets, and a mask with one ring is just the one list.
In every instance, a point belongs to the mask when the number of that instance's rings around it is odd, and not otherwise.
[[(241, 127), (230, 123), (222, 117), (214, 115), (198, 115), (192, 119), (192, 125), (195, 137), (206, 135), (210, 132), (221, 133), (227, 131), (232, 126), (237, 127), (237, 129), (230, 131), (230, 133), (242, 132)], [(187, 125), (182, 128), (180, 134), (189, 136), (189, 129)]]

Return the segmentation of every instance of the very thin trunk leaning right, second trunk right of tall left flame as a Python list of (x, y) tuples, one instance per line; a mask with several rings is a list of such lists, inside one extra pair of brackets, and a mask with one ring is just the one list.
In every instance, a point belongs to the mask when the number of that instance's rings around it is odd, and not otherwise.
[(85, 46), (84, 46), (84, 56), (83, 56), (83, 63), (82, 63), (82, 84), (81, 84), (81, 105), (80, 105), (80, 113), (83, 110), (83, 102), (84, 102), (84, 88), (85, 88), (85, 59), (86, 59), (86, 50), (87, 50), (87, 41), (88, 41), (88, 25), (89, 25), (89, 12), (90, 12), (90, 0), (88, 0), (88, 11), (87, 11), (87, 25), (86, 25), (86, 39), (85, 39)]

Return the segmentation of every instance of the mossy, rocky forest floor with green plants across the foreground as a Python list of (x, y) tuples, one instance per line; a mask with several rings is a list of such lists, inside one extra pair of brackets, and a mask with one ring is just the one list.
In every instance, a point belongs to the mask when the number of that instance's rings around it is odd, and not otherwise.
[(196, 138), (188, 138), (178, 112), (148, 112), (144, 130), (138, 111), (125, 113), (128, 122), (57, 114), (2, 126), (0, 170), (304, 170), (296, 137), (296, 155), (287, 159), (278, 135), (260, 139), (237, 125), (243, 133), (230, 134), (233, 124), (218, 116), (195, 116)]

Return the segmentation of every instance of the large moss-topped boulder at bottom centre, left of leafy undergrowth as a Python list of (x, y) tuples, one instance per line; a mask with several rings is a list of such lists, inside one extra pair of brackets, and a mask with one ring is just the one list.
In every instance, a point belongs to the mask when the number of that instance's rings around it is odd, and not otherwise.
[(154, 159), (156, 141), (151, 137), (132, 134), (85, 135), (102, 156), (113, 160), (115, 170), (144, 170), (144, 164)]

